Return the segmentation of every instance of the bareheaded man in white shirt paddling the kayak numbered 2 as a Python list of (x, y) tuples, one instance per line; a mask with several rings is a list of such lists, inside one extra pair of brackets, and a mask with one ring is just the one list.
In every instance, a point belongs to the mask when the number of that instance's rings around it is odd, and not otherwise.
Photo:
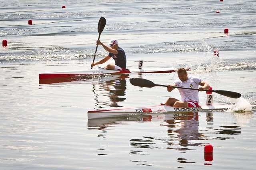
[[(188, 76), (185, 68), (179, 68), (177, 71), (179, 79), (175, 80), (172, 85), (167, 86), (168, 92), (174, 90), (172, 86), (185, 87), (185, 88), (197, 88), (199, 91), (208, 90), (209, 84), (197, 77)], [(198, 88), (198, 84), (202, 87)], [(176, 98), (168, 98), (165, 102), (166, 105), (172, 107), (198, 107), (198, 91), (178, 88), (181, 96), (181, 100)]]

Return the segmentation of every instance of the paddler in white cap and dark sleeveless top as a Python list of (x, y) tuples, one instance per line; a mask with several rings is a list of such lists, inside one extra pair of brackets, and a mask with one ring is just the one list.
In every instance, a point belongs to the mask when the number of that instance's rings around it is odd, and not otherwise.
[(97, 45), (102, 45), (102, 47), (109, 52), (109, 54), (102, 60), (92, 63), (91, 66), (95, 66), (97, 64), (103, 64), (108, 61), (111, 57), (114, 59), (115, 64), (108, 64), (105, 66), (105, 69), (108, 70), (125, 70), (126, 69), (126, 55), (124, 50), (118, 46), (117, 40), (112, 39), (109, 43), (110, 47), (106, 46), (100, 40), (97, 40)]

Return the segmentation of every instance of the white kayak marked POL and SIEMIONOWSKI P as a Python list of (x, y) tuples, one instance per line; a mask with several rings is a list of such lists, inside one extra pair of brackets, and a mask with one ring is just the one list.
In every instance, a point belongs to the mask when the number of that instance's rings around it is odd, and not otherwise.
[[(118, 117), (130, 115), (149, 115), (152, 113), (184, 113), (193, 111), (210, 111), (210, 110), (225, 110), (232, 109), (235, 105), (202, 105), (200, 107), (171, 107), (168, 105), (148, 106), (148, 107), (133, 107), (122, 109), (108, 110), (92, 110), (88, 111), (88, 119), (97, 119), (104, 117)], [(256, 107), (252, 105), (251, 107)]]

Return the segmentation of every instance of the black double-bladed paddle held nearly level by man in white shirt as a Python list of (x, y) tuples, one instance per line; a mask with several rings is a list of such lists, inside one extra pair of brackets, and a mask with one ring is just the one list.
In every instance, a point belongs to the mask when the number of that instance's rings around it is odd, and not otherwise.
[[(163, 86), (163, 87), (167, 87), (166, 85), (162, 85), (162, 84), (154, 84), (154, 82), (150, 81), (150, 80), (146, 80), (144, 78), (130, 78), (130, 83), (134, 86), (140, 86), (140, 87), (148, 87), (148, 88), (152, 88), (154, 86)], [(196, 88), (186, 88), (186, 87), (177, 87), (177, 86), (172, 86), (174, 88), (183, 88), (183, 89), (188, 89), (188, 90), (198, 90)], [(221, 94), (223, 96), (227, 96), (229, 98), (240, 98), (241, 94), (237, 93), (237, 92), (230, 92), (230, 91), (226, 91), (226, 90), (204, 90), (206, 92), (215, 92), (218, 94)]]

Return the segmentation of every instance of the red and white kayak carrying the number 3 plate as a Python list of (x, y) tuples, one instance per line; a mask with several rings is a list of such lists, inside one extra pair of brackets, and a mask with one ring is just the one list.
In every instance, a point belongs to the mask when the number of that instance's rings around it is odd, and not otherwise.
[[(107, 70), (101, 67), (89, 70), (67, 70), (59, 72), (46, 72), (39, 74), (39, 80), (49, 78), (68, 78), (97, 74), (130, 74), (130, 73), (169, 73), (175, 72), (176, 68), (131, 68), (126, 70)], [(190, 70), (190, 68), (187, 68)]]

